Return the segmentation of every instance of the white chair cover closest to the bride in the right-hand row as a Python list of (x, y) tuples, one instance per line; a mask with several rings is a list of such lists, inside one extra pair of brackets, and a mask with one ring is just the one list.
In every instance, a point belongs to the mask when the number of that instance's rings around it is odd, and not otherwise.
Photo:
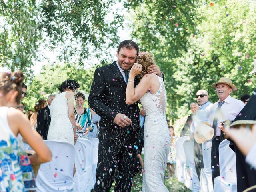
[(183, 148), (184, 141), (188, 140), (188, 136), (176, 139), (176, 174), (180, 182), (184, 183), (184, 164), (186, 164), (186, 155)]

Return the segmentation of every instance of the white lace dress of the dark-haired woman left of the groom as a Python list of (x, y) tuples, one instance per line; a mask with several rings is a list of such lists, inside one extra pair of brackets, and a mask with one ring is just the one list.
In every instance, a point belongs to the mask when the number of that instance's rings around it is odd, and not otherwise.
[(74, 144), (74, 132), (68, 118), (66, 92), (56, 95), (50, 107), (51, 123), (47, 135), (48, 140), (68, 141)]

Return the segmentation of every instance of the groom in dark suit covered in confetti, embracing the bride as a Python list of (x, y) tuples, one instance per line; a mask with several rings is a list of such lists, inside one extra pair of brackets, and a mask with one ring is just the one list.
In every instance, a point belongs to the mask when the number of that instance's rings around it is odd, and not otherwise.
[[(119, 44), (117, 62), (97, 68), (94, 73), (89, 106), (100, 115), (99, 151), (94, 192), (108, 192), (118, 176), (115, 192), (130, 192), (140, 133), (138, 104), (126, 105), (128, 70), (138, 55), (138, 45), (130, 40)], [(162, 75), (154, 65), (149, 73)], [(135, 80), (135, 86), (138, 82)]]

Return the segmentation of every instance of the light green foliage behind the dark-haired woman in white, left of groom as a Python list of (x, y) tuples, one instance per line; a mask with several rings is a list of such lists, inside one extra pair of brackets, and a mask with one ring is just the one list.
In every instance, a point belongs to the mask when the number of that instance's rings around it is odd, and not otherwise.
[(58, 87), (67, 79), (76, 80), (80, 84), (79, 90), (89, 93), (94, 70), (95, 67), (83, 68), (78, 64), (45, 65), (40, 74), (37, 74), (29, 84), (28, 95), (22, 100), (26, 110), (34, 110), (34, 106), (39, 99), (46, 99), (49, 94), (58, 93)]

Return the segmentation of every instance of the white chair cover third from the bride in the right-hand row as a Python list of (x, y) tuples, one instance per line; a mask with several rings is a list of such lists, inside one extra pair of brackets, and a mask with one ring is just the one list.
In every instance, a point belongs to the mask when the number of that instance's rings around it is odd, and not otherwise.
[(212, 167), (211, 167), (211, 151), (212, 140), (202, 143), (204, 168), (200, 174), (200, 192), (212, 192)]

